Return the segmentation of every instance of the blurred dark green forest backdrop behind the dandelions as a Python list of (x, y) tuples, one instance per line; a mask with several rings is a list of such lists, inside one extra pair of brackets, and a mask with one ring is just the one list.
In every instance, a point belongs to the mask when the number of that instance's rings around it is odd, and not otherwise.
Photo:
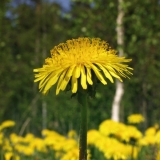
[[(124, 79), (119, 120), (126, 122), (128, 115), (140, 113), (145, 117), (142, 130), (160, 124), (160, 1), (124, 0), (120, 8), (119, 4), (117, 0), (1, 0), (0, 122), (14, 120), (19, 135), (38, 136), (45, 128), (61, 134), (79, 131), (77, 101), (68, 92), (56, 96), (54, 87), (46, 96), (39, 93), (33, 69), (42, 67), (50, 50), (61, 42), (99, 37), (132, 58), (133, 76)], [(90, 99), (89, 129), (112, 117), (116, 84), (100, 85)]]

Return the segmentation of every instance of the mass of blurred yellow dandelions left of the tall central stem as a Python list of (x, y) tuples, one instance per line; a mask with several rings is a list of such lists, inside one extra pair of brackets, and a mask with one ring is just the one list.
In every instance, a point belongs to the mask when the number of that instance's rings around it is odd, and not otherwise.
[[(7, 123), (8, 121), (5, 121), (3, 124)], [(9, 125), (6, 125), (6, 127), (9, 127)], [(31, 133), (24, 137), (11, 133), (9, 138), (6, 138), (3, 132), (0, 132), (0, 147), (3, 150), (5, 160), (21, 160), (22, 156), (35, 157), (36, 153), (48, 154), (49, 151), (55, 152), (56, 159), (78, 160), (78, 136), (75, 131), (69, 131), (68, 136), (65, 137), (55, 131), (45, 129), (42, 130), (42, 137), (44, 138), (35, 137)], [(89, 159), (88, 151), (87, 160)]]

